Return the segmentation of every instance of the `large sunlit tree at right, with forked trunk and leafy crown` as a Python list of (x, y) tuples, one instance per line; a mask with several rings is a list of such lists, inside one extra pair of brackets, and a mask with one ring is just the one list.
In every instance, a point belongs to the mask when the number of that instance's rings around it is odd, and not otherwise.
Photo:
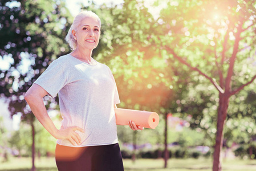
[(197, 71), (219, 92), (213, 170), (221, 170), (229, 98), (256, 78), (255, 2), (168, 1), (159, 24), (163, 30), (159, 37), (164, 40), (160, 46), (170, 59)]

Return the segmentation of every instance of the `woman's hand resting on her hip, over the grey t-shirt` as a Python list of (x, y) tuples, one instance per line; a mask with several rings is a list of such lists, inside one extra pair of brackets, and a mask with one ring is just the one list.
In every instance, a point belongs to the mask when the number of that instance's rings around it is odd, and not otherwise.
[(68, 127), (68, 128), (60, 128), (56, 133), (56, 139), (67, 139), (73, 145), (80, 145), (81, 137), (75, 131), (84, 132), (82, 128), (79, 127)]

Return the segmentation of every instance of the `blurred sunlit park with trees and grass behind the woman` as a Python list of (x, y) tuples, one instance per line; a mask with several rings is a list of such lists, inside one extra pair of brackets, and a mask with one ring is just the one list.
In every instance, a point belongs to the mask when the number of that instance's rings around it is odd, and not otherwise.
[[(160, 115), (156, 129), (118, 126), (125, 170), (256, 169), (255, 1), (78, 5), (101, 19), (93, 58), (115, 76), (117, 107)], [(56, 140), (24, 95), (71, 52), (64, 38), (75, 13), (64, 1), (0, 2), (0, 170), (56, 170)], [(58, 98), (44, 103), (60, 127)], [(6, 115), (19, 127), (10, 130)]]

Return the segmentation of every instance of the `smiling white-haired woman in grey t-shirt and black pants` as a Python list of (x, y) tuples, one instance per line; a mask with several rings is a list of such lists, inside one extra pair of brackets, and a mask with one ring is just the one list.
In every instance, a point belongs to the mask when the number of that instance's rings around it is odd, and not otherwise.
[[(111, 70), (92, 58), (101, 22), (91, 11), (78, 14), (66, 36), (70, 54), (54, 60), (32, 84), (25, 99), (43, 127), (57, 140), (59, 170), (124, 170), (114, 108), (120, 103)], [(59, 93), (62, 127), (47, 114), (43, 97)], [(129, 121), (133, 130), (143, 129)]]

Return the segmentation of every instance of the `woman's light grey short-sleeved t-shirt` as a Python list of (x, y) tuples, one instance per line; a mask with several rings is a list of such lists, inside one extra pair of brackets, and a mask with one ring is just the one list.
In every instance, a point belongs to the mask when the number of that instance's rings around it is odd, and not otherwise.
[[(111, 70), (96, 62), (82, 62), (70, 54), (54, 60), (34, 82), (55, 97), (59, 93), (62, 127), (78, 126), (82, 139), (77, 146), (115, 144), (117, 141), (114, 104), (120, 103)], [(67, 139), (60, 145), (74, 146)]]

